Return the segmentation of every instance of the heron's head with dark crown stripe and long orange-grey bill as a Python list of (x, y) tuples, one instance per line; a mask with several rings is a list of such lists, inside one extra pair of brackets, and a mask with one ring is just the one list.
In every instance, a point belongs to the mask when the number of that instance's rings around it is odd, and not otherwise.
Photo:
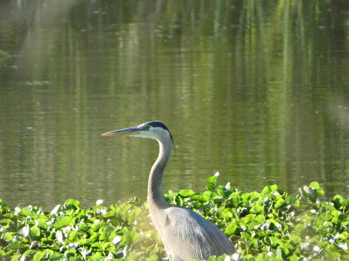
[(114, 130), (112, 132), (107, 132), (102, 135), (105, 136), (133, 136), (142, 138), (151, 138), (157, 141), (163, 141), (164, 139), (170, 139), (173, 142), (170, 130), (161, 121), (148, 121), (139, 126)]

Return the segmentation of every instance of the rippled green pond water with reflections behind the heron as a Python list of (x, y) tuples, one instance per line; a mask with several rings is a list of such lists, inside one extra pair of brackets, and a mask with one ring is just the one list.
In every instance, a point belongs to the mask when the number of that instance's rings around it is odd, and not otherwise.
[(10, 54), (0, 56), (9, 206), (146, 200), (158, 144), (101, 134), (149, 120), (175, 142), (164, 192), (202, 192), (219, 171), (218, 183), (240, 190), (277, 184), (296, 195), (318, 181), (325, 197), (348, 197), (345, 3), (9, 2), (0, 8), (11, 10), (1, 36), (15, 42), (0, 48)]

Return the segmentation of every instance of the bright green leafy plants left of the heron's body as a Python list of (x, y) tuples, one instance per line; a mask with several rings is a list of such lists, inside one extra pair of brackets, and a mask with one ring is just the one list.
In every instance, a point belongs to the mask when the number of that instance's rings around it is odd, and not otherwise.
[(33, 206), (10, 210), (0, 200), (0, 213), (0, 259), (141, 260), (153, 252), (165, 255), (147, 205), (136, 198), (91, 209), (80, 209), (79, 201), (68, 199), (51, 212)]

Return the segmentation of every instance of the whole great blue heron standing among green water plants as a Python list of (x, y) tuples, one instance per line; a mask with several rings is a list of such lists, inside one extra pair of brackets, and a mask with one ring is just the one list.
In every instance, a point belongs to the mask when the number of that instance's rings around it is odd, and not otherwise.
[(164, 168), (171, 153), (172, 135), (160, 121), (114, 130), (102, 135), (128, 135), (151, 138), (159, 142), (159, 156), (151, 168), (148, 181), (148, 205), (170, 260), (207, 260), (210, 256), (236, 253), (229, 238), (213, 223), (189, 208), (169, 206), (163, 195)]

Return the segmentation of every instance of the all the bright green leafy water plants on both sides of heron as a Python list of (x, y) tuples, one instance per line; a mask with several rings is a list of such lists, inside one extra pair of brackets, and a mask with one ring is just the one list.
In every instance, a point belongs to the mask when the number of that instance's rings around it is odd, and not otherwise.
[[(207, 191), (165, 195), (214, 222), (235, 244), (237, 260), (349, 260), (349, 199), (327, 202), (317, 182), (288, 195), (268, 185), (242, 192), (206, 179)], [(99, 202), (98, 202), (99, 203)], [(162, 260), (165, 251), (147, 204), (137, 198), (109, 207), (79, 208), (68, 199), (51, 212), (28, 206), (10, 209), (0, 200), (0, 259)], [(227, 260), (225, 255), (210, 261)]]

